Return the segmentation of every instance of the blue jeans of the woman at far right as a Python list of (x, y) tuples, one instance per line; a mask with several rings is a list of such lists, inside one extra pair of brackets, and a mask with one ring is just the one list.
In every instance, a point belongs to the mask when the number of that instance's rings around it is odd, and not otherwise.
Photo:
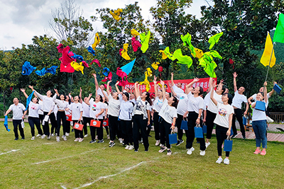
[(253, 131), (256, 134), (256, 147), (267, 147), (266, 120), (253, 121)]

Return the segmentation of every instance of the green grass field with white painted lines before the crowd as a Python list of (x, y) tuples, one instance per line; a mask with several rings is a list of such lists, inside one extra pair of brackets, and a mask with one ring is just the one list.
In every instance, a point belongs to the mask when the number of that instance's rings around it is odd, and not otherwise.
[(66, 142), (55, 137), (31, 141), (27, 123), (26, 139), (14, 141), (13, 130), (6, 132), (3, 123), (0, 188), (284, 188), (283, 143), (268, 142), (268, 153), (261, 156), (253, 154), (254, 140), (234, 139), (230, 164), (224, 165), (215, 163), (215, 136), (205, 156), (196, 142), (190, 156), (185, 142), (173, 145), (173, 154), (167, 156), (158, 153), (153, 137), (148, 152), (141, 145), (135, 153), (119, 142), (109, 148), (108, 139), (89, 144), (89, 136), (73, 142), (74, 132)]

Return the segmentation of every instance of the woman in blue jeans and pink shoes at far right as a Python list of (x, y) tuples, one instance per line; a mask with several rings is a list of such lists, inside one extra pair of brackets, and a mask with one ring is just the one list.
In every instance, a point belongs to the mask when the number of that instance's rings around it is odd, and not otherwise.
[[(267, 97), (267, 82), (263, 84), (264, 89), (263, 93), (257, 93), (256, 95), (256, 102), (261, 101), (267, 104), (268, 97)], [(252, 118), (252, 125), (253, 125), (253, 132), (256, 134), (256, 151), (253, 154), (261, 154), (266, 155), (266, 148), (267, 148), (267, 138), (266, 138), (266, 112), (261, 110), (256, 110), (256, 102), (251, 103), (251, 108), (253, 108), (253, 118)], [(266, 106), (267, 107), (267, 106)], [(261, 144), (262, 144), (262, 151), (261, 151)]]

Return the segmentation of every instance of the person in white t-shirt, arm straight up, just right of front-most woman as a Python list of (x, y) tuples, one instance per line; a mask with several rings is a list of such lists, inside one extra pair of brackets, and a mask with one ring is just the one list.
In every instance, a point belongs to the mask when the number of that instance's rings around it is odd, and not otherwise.
[(232, 128), (233, 128), (233, 138), (236, 137), (237, 132), (236, 132), (236, 120), (238, 120), (240, 129), (241, 129), (241, 134), (243, 135), (243, 139), (246, 139), (246, 131), (244, 130), (244, 124), (243, 124), (243, 119), (242, 119), (242, 113), (241, 113), (241, 103), (246, 103), (246, 111), (244, 112), (244, 115), (248, 113), (249, 110), (249, 103), (248, 100), (246, 99), (246, 96), (244, 96), (244, 91), (245, 88), (244, 86), (241, 86), (239, 89), (236, 87), (236, 72), (233, 74), (234, 76), (234, 91), (235, 91), (235, 96), (233, 98), (233, 103), (231, 105), (234, 108), (234, 116), (232, 120)]

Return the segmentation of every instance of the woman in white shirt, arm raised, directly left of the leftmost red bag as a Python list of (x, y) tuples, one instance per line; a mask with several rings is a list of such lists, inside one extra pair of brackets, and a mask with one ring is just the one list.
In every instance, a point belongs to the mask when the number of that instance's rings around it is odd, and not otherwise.
[[(64, 95), (59, 95), (58, 90), (54, 89), (55, 95), (53, 96), (53, 102), (55, 105), (58, 106), (58, 113), (57, 113), (57, 122), (58, 122), (58, 128), (57, 128), (57, 137), (56, 141), (60, 142), (60, 127), (61, 127), (61, 121), (62, 121), (62, 128), (63, 128), (63, 136), (62, 138), (66, 141), (67, 137), (65, 136), (66, 133), (66, 115), (65, 115), (65, 110), (67, 110), (68, 103), (65, 101), (65, 96)], [(56, 99), (56, 97), (59, 96), (60, 100)]]

